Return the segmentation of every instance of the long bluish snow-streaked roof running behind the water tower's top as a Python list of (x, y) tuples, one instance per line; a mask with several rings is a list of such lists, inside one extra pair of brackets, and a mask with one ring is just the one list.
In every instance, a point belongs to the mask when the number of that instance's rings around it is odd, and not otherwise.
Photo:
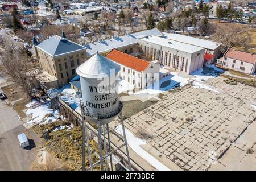
[(144, 38), (146, 36), (155, 35), (155, 36), (163, 36), (163, 34), (156, 28), (151, 30), (145, 30), (141, 32), (136, 32), (134, 34), (123, 35), (117, 38), (101, 40), (100, 42), (94, 42), (90, 44), (86, 44), (87, 55), (92, 56), (96, 54), (96, 52), (103, 53), (111, 51), (114, 48), (121, 48), (133, 44), (137, 44), (139, 38)]

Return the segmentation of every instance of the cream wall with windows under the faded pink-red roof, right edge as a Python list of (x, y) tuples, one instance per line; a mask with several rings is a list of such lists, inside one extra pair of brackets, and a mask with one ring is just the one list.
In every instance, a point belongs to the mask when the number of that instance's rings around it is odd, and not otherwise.
[[(235, 59), (230, 58), (230, 57), (224, 57), (222, 66), (224, 68), (234, 69), (236, 71), (240, 71), (243, 73), (252, 74), (255, 72), (255, 64), (247, 63), (245, 61), (240, 61), (240, 60), (235, 60), (235, 61), (234, 60)], [(245, 69), (243, 70), (240, 67), (245, 68)]]

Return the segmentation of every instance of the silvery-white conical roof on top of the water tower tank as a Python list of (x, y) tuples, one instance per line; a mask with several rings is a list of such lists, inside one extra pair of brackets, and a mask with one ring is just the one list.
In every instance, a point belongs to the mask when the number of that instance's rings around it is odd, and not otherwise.
[(120, 66), (107, 57), (96, 53), (96, 55), (81, 64), (76, 69), (76, 73), (85, 78), (104, 78), (110, 76), (112, 69), (117, 74), (120, 71)]

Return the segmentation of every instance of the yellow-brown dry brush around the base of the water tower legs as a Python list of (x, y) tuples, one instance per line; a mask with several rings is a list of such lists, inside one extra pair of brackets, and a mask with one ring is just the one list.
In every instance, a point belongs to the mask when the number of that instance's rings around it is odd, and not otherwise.
[[(63, 121), (57, 121), (50, 125), (34, 126), (36, 133), (42, 135), (43, 130), (52, 129), (56, 125), (64, 125)], [(82, 131), (79, 126), (73, 127), (70, 131), (58, 130), (50, 133), (51, 139), (44, 142), (44, 146), (47, 151), (51, 152), (61, 164), (67, 164), (70, 170), (82, 169)], [(98, 144), (94, 140), (90, 140), (90, 146), (98, 154)], [(86, 148), (85, 164), (89, 167), (89, 157)], [(95, 154), (92, 154), (92, 160), (95, 163), (98, 158)], [(96, 166), (94, 169), (99, 170), (100, 166)]]

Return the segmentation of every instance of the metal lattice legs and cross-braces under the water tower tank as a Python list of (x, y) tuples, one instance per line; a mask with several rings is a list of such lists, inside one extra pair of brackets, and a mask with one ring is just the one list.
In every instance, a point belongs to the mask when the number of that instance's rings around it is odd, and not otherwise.
[[(83, 112), (82, 112), (83, 113)], [(126, 140), (126, 135), (125, 135), (125, 126), (123, 122), (123, 116), (122, 112), (119, 113), (120, 115), (120, 120), (121, 120), (121, 125), (122, 125), (122, 139), (121, 141), (123, 144), (119, 143), (116, 144), (115, 142), (113, 143), (110, 139), (110, 132), (115, 132), (114, 130), (110, 131), (109, 124), (101, 124), (100, 121), (97, 121), (97, 126), (98, 130), (94, 129), (92, 130), (92, 127), (88, 127), (88, 121), (89, 118), (87, 117), (82, 117), (82, 170), (93, 170), (94, 167), (98, 164), (100, 164), (100, 169), (101, 170), (106, 170), (106, 171), (113, 171), (113, 160), (116, 163), (119, 163), (120, 166), (122, 166), (124, 169), (127, 171), (131, 170), (131, 162), (130, 162), (130, 156), (129, 156), (129, 150), (127, 146), (127, 140)], [(89, 137), (89, 130), (92, 131), (92, 135)], [(112, 135), (113, 136), (113, 135)], [(90, 147), (90, 139), (96, 139), (97, 137), (97, 142), (98, 142), (98, 148), (100, 151), (100, 154), (98, 155), (96, 151), (93, 151), (93, 149)], [(85, 166), (85, 146), (87, 147), (88, 155), (89, 155), (89, 162), (90, 162), (90, 167), (86, 169)], [(126, 147), (126, 154), (125, 152), (122, 151), (122, 147)], [(103, 152), (103, 147), (104, 147), (104, 152)], [(92, 155), (91, 151), (100, 159), (96, 163), (92, 162)], [(121, 163), (120, 161), (117, 161), (115, 156), (120, 156), (121, 159), (123, 159), (123, 155), (125, 156), (126, 164)], [(105, 165), (105, 168), (104, 168)]]

